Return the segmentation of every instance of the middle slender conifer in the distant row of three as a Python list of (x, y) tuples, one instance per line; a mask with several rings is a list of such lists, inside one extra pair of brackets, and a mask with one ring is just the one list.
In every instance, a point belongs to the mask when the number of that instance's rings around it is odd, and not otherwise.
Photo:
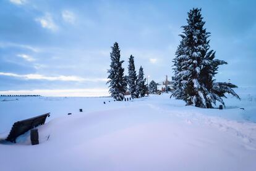
[(136, 97), (136, 81), (137, 81), (137, 74), (135, 71), (134, 57), (130, 55), (127, 83), (129, 85), (129, 92), (132, 98)]

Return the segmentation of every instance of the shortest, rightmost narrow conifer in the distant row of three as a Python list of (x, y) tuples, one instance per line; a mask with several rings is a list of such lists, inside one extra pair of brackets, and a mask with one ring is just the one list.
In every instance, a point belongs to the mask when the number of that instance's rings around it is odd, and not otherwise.
[(136, 97), (144, 97), (147, 91), (147, 85), (145, 85), (146, 79), (144, 78), (143, 68), (140, 66), (138, 79), (136, 82)]

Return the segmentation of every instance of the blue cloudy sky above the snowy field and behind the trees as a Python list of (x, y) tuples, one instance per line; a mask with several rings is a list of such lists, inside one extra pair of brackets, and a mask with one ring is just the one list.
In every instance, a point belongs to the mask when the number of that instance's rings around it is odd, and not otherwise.
[(216, 81), (256, 85), (256, 1), (0, 1), (0, 94), (106, 95), (114, 42), (148, 81), (173, 76), (187, 12), (202, 8)]

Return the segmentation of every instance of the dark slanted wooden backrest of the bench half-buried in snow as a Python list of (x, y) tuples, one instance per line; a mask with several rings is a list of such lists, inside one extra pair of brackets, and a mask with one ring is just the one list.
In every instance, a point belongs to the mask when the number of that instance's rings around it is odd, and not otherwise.
[(30, 129), (33, 129), (39, 125), (45, 124), (46, 117), (49, 117), (50, 113), (41, 114), (40, 116), (31, 117), (22, 121), (15, 122), (12, 125), (12, 129), (6, 138), (6, 141), (16, 143), (16, 138), (27, 132)]

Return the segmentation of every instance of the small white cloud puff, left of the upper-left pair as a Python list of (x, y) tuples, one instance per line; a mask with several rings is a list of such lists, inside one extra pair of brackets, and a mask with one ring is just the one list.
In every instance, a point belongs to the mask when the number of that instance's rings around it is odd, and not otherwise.
[(43, 28), (47, 28), (51, 31), (58, 30), (58, 26), (54, 23), (53, 17), (51, 17), (51, 14), (47, 13), (43, 17), (39, 17), (35, 19), (36, 22), (39, 22)]

